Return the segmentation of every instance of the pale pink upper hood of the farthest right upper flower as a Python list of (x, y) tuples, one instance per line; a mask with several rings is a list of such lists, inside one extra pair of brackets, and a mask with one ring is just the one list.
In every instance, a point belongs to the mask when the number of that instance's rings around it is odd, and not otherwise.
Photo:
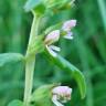
[(68, 20), (63, 23), (62, 30), (70, 32), (72, 28), (76, 25), (76, 20)]

